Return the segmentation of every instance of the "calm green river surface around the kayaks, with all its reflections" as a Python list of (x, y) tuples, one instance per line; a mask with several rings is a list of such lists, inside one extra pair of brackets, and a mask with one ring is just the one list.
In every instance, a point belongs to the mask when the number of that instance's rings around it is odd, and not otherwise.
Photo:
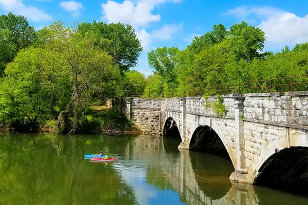
[[(179, 141), (0, 133), (0, 204), (308, 204), (308, 197), (233, 186), (229, 159)], [(103, 150), (117, 162), (84, 154)]]

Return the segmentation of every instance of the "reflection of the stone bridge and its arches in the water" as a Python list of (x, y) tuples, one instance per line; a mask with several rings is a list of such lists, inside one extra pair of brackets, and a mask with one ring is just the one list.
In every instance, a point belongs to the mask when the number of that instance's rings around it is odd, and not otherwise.
[[(119, 171), (129, 185), (139, 192), (139, 202), (146, 201), (147, 197), (158, 197), (153, 189), (146, 188), (143, 183), (136, 185), (136, 181), (143, 180), (143, 175), (149, 186), (159, 190), (174, 190), (181, 201), (187, 204), (230, 204), (230, 200), (240, 204), (238, 201), (243, 201), (243, 191), (234, 188), (229, 181), (229, 174), (233, 171), (229, 160), (207, 153), (178, 150), (177, 145), (177, 141), (168, 137), (136, 138), (130, 146), (142, 147), (146, 152), (141, 156), (140, 151), (127, 148), (131, 150), (131, 158), (139, 161), (127, 161), (127, 165), (119, 167)], [(159, 158), (155, 157), (157, 154)], [(144, 193), (142, 190), (150, 191)]]

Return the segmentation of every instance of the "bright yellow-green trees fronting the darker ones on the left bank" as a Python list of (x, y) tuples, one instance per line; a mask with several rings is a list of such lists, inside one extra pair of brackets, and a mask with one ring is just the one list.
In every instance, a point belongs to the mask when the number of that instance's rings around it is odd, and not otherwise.
[(40, 39), (43, 44), (22, 50), (6, 70), (0, 120), (38, 126), (53, 118), (61, 133), (74, 133), (89, 103), (102, 98), (98, 93), (111, 93), (102, 89), (119, 90), (120, 70), (95, 46), (92, 32), (82, 35), (57, 22), (44, 28)]

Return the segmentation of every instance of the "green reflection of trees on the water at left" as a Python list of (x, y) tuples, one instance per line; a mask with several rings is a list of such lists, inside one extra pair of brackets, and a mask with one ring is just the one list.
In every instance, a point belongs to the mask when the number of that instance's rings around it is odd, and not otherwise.
[[(1, 136), (0, 176), (5, 177), (0, 178), (0, 204), (137, 204), (117, 170), (81, 160), (80, 150), (92, 150), (97, 144), (85, 145), (85, 140), (51, 135)], [(119, 146), (125, 149), (125, 144)]]

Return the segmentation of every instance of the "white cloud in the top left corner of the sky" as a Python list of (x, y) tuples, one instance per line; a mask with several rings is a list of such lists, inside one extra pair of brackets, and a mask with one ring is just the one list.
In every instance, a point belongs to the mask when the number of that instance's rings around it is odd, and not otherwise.
[(52, 18), (43, 11), (32, 6), (25, 6), (22, 0), (0, 0), (0, 8), (4, 11), (11, 11), (14, 14), (26, 16), (34, 22), (52, 20)]

